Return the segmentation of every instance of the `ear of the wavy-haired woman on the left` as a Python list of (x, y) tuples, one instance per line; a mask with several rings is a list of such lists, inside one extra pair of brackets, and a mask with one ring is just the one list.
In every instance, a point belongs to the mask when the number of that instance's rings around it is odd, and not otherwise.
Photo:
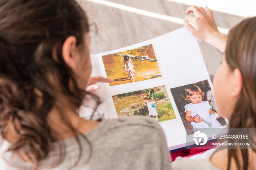
[(76, 50), (76, 38), (75, 36), (69, 36), (63, 43), (62, 56), (65, 63), (71, 68), (75, 69), (75, 55)]

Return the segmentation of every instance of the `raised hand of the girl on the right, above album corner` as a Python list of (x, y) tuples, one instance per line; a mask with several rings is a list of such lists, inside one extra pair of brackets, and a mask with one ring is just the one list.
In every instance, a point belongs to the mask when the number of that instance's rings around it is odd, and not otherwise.
[[(207, 7), (204, 9), (202, 7), (197, 8), (195, 5), (188, 7), (185, 13), (193, 12), (195, 13), (195, 17), (186, 15), (184, 27), (200, 42), (209, 43), (224, 52), (227, 44), (227, 36), (218, 31), (211, 10)], [(188, 22), (191, 22), (194, 28)]]

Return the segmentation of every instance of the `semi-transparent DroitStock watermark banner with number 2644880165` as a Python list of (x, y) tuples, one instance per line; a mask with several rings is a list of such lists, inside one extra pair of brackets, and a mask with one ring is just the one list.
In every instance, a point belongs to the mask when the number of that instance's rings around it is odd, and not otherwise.
[(256, 128), (191, 128), (186, 148), (256, 148)]

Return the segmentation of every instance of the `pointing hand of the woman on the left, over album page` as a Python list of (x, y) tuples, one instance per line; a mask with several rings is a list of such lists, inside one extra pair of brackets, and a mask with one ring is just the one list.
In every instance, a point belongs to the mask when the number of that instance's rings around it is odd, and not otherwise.
[(86, 88), (87, 92), (95, 92), (96, 90), (99, 89), (99, 86), (96, 85), (95, 83), (101, 82), (101, 83), (112, 83), (114, 80), (109, 79), (109, 78), (104, 78), (101, 76), (94, 76), (90, 78), (89, 85)]

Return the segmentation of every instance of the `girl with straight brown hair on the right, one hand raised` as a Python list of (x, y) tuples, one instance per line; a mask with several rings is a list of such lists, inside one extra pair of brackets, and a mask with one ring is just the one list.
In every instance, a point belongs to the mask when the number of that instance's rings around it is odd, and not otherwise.
[[(207, 11), (207, 13), (204, 11)], [(189, 7), (195, 13), (185, 16), (184, 27), (200, 42), (207, 42), (223, 52), (221, 67), (213, 81), (218, 113), (229, 119), (227, 136), (248, 135), (249, 146), (218, 147), (206, 151), (201, 158), (178, 159), (173, 169), (256, 169), (256, 17), (243, 20), (229, 31), (221, 34), (209, 8)], [(191, 22), (192, 27), (188, 22)], [(234, 129), (236, 128), (236, 129)], [(239, 128), (239, 129), (238, 129)], [(244, 138), (228, 138), (227, 143), (242, 143)]]

